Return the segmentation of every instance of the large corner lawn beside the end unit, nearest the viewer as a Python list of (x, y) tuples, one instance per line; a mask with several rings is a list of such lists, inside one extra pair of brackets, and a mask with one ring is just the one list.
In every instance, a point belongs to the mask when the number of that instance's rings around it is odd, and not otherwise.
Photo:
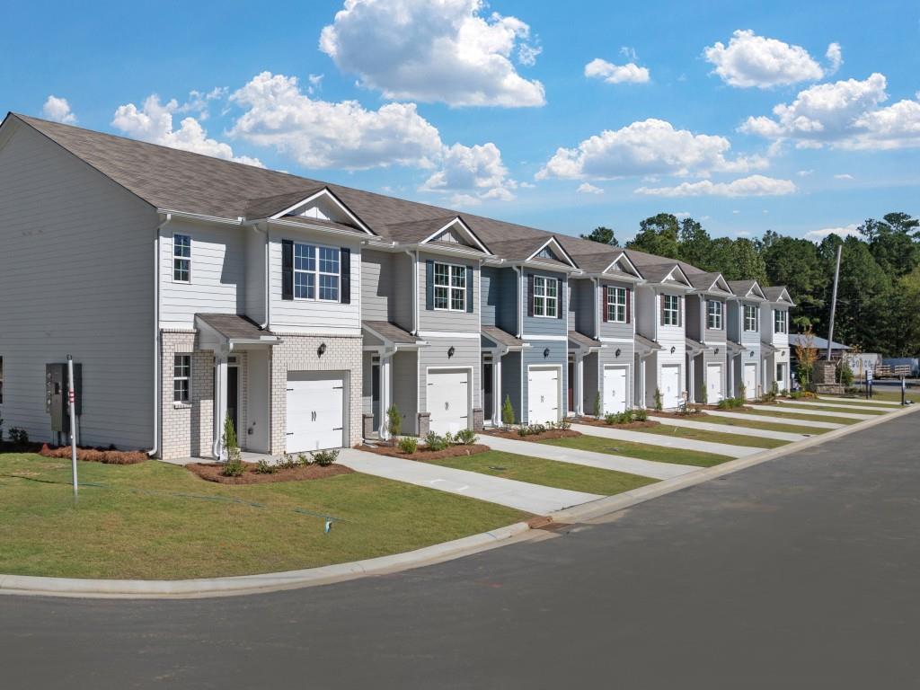
[[(0, 454), (0, 573), (172, 580), (302, 569), (529, 517), (362, 474), (224, 486), (154, 461), (81, 462), (79, 473), (104, 487), (84, 486), (75, 508), (69, 461)], [(308, 512), (345, 522), (324, 535), (324, 519)]]

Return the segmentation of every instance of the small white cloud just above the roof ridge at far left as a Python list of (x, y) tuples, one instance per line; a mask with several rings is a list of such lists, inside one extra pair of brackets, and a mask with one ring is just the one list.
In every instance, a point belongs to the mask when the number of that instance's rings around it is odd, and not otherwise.
[[(196, 92), (192, 92), (195, 94)], [(194, 102), (193, 100), (190, 103)], [(173, 127), (173, 114), (189, 109), (189, 103), (179, 105), (173, 98), (166, 104), (160, 102), (156, 94), (144, 100), (144, 106), (138, 109), (133, 103), (119, 106), (115, 110), (112, 125), (136, 139), (152, 144), (162, 144), (172, 148), (191, 151), (196, 154), (211, 155), (215, 158), (245, 163), (248, 166), (263, 167), (258, 158), (247, 155), (236, 156), (230, 144), (218, 142), (208, 137), (201, 127), (201, 122), (193, 117), (184, 118), (178, 130)], [(197, 107), (197, 106), (196, 106)]]

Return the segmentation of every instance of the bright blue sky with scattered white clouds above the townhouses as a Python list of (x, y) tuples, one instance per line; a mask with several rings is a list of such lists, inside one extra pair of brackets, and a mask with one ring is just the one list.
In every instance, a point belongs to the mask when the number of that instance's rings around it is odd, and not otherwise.
[(569, 234), (920, 214), (916, 3), (135, 5), (6, 7), (0, 109)]

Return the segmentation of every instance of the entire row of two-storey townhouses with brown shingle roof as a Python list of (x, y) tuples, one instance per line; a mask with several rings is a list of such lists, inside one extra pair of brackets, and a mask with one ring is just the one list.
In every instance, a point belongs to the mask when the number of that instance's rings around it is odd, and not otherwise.
[[(789, 387), (787, 291), (468, 213), (7, 115), (0, 410), (164, 458)], [(600, 397), (601, 409), (596, 409)]]

